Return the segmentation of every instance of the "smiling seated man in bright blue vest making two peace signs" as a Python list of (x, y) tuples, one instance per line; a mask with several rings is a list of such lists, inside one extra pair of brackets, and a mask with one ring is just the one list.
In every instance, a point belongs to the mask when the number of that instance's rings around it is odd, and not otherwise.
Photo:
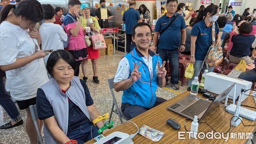
[(166, 69), (159, 55), (149, 50), (151, 27), (137, 23), (133, 28), (132, 40), (136, 47), (119, 62), (114, 88), (123, 91), (121, 109), (131, 119), (164, 101), (156, 96), (157, 87), (166, 83)]

